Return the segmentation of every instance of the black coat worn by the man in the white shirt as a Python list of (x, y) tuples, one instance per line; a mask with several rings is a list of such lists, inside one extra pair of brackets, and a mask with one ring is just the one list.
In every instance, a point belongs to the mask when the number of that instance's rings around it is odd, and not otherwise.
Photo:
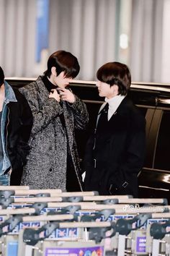
[(138, 197), (138, 173), (146, 148), (145, 126), (139, 109), (125, 97), (103, 130), (91, 135), (87, 142), (83, 163), (85, 190)]

